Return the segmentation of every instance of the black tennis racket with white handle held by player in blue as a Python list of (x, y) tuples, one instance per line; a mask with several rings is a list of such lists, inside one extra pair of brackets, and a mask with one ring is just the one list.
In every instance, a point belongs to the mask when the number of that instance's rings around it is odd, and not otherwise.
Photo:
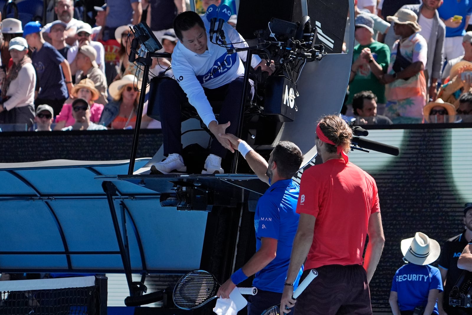
[[(174, 304), (181, 309), (194, 309), (205, 305), (216, 296), (221, 285), (208, 271), (193, 270), (180, 278), (174, 288)], [(238, 288), (241, 294), (255, 295), (257, 288)]]

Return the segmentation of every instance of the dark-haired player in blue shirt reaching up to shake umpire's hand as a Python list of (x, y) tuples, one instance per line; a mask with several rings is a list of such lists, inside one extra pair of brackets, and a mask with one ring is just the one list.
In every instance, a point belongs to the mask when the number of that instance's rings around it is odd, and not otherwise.
[(254, 276), (257, 295), (248, 304), (248, 315), (260, 315), (282, 297), (290, 252), (298, 226), (295, 213), (299, 185), (292, 177), (300, 169), (303, 154), (294, 143), (280, 141), (269, 162), (246, 142), (232, 134), (220, 135), (231, 142), (231, 152), (238, 150), (254, 173), (270, 185), (257, 202), (254, 214), (256, 253), (219, 288), (217, 296), (229, 298), (236, 285)]

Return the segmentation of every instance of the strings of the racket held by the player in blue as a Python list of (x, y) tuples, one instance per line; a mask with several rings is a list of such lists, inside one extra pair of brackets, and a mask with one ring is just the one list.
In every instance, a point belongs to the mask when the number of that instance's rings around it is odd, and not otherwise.
[(202, 304), (215, 294), (216, 282), (209, 272), (197, 271), (179, 281), (174, 291), (174, 302), (182, 308)]

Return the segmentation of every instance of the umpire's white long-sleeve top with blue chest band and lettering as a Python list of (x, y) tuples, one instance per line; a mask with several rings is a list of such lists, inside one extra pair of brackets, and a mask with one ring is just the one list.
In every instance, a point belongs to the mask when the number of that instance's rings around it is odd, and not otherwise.
[[(208, 127), (210, 122), (216, 119), (203, 87), (214, 89), (243, 76), (244, 66), (241, 60), (246, 60), (247, 51), (228, 54), (226, 48), (211, 43), (208, 33), (210, 23), (205, 18), (202, 20), (206, 28), (208, 50), (198, 54), (186, 49), (178, 41), (172, 53), (172, 70), (175, 79), (187, 94), (188, 101), (195, 107), (203, 123)], [(235, 48), (248, 46), (233, 26), (225, 23), (223, 31), (228, 45), (235, 43)], [(260, 62), (261, 58), (253, 55), (251, 66), (254, 68)]]

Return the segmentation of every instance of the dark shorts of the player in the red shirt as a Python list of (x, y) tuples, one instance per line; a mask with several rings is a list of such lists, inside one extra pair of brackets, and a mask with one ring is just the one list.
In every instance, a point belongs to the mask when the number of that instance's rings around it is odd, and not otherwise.
[[(361, 265), (326, 265), (297, 298), (295, 312), (304, 315), (371, 315), (371, 294)], [(303, 272), (302, 281), (310, 272)]]

